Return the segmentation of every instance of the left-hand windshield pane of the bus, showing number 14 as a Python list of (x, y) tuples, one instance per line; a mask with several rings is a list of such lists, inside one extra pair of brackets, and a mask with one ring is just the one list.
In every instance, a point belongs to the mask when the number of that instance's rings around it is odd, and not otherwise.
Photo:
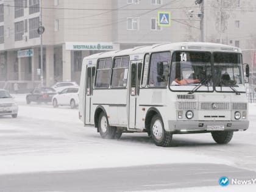
[[(212, 84), (210, 52), (175, 52), (172, 55), (171, 88), (194, 87), (207, 80), (207, 87)], [(191, 88), (188, 88), (191, 90)]]

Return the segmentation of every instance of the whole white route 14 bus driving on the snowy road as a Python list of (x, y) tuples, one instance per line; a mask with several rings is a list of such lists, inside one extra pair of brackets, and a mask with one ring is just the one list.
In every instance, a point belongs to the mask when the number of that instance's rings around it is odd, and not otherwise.
[(162, 43), (90, 55), (79, 99), (79, 118), (102, 138), (148, 132), (157, 146), (169, 146), (173, 134), (212, 133), (225, 144), (249, 127), (241, 50), (224, 44)]

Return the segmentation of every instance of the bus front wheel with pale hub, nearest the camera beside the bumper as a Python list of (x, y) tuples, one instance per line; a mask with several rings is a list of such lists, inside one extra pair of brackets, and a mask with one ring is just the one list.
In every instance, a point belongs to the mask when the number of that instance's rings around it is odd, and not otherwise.
[(168, 147), (171, 144), (172, 133), (166, 132), (160, 115), (154, 115), (151, 120), (151, 137), (157, 146)]

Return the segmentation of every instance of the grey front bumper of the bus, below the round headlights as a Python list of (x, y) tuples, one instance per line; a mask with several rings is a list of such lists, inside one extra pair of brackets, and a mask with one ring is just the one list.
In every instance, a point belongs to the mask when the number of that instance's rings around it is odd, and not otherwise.
[(224, 126), (224, 130), (246, 130), (249, 127), (249, 121), (174, 121), (169, 120), (166, 131), (176, 132), (199, 132), (211, 131), (208, 126)]

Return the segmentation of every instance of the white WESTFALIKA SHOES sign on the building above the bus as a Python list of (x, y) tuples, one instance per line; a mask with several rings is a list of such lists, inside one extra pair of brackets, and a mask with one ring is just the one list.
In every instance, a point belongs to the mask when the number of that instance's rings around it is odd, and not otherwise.
[(72, 43), (66, 42), (66, 50), (119, 50), (119, 43)]

